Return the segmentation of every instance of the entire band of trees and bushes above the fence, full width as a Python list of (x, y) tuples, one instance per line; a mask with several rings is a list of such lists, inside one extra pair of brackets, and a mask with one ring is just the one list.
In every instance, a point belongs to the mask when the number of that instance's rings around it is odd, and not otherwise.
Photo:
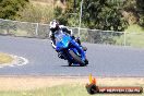
[[(79, 26), (81, 0), (0, 0), (0, 19)], [(34, 3), (37, 2), (37, 3)], [(82, 27), (125, 31), (144, 28), (144, 0), (83, 0)]]

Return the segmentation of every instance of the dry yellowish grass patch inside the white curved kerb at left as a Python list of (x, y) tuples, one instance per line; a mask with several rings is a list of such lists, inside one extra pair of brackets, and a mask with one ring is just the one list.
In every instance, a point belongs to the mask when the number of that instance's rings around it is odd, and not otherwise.
[(11, 63), (13, 58), (7, 53), (0, 52), (0, 64)]

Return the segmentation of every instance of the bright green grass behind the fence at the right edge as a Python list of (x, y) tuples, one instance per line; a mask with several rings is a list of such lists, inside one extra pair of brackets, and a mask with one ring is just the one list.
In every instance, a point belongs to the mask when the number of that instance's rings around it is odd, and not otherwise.
[[(136, 24), (130, 25), (125, 29), (125, 46), (144, 48), (144, 27)], [(117, 45), (124, 45), (124, 35), (115, 37)]]

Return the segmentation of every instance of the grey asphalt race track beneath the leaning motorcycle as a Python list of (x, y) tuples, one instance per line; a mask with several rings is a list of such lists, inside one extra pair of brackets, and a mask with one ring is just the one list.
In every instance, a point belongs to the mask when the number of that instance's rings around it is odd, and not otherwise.
[(68, 67), (57, 57), (48, 39), (0, 36), (0, 51), (28, 59), (25, 65), (0, 68), (0, 75), (144, 76), (144, 49), (83, 44), (87, 67)]

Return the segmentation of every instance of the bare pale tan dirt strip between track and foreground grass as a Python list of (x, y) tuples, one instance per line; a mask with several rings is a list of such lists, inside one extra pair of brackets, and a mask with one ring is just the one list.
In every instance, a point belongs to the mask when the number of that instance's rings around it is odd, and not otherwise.
[[(143, 85), (144, 77), (98, 77), (98, 85)], [(34, 89), (62, 84), (86, 84), (87, 77), (76, 76), (0, 76), (0, 91)]]

